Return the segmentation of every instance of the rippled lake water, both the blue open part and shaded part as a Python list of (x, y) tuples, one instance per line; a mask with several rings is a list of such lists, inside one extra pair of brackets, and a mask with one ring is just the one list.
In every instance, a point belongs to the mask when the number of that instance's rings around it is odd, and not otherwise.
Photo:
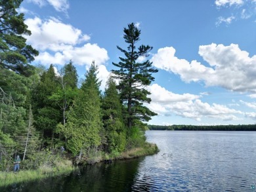
[[(251, 191), (256, 132), (147, 131), (156, 155), (85, 166), (8, 191)], [(0, 189), (1, 191), (1, 189)]]

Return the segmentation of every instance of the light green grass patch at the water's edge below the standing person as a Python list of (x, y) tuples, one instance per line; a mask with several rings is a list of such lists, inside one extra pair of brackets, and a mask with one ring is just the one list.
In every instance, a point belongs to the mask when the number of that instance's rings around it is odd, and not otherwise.
[(75, 170), (72, 163), (60, 163), (58, 166), (40, 166), (37, 170), (20, 170), (19, 172), (0, 172), (0, 187), (12, 183), (32, 182), (62, 174), (68, 174)]

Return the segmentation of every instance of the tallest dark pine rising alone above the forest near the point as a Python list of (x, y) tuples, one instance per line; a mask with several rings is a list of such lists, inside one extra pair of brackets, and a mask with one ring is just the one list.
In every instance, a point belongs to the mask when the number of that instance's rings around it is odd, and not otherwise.
[(158, 70), (152, 67), (152, 62), (149, 60), (139, 62), (140, 57), (146, 58), (148, 56), (152, 47), (140, 45), (136, 49), (135, 45), (140, 40), (140, 30), (135, 27), (135, 24), (128, 24), (128, 28), (124, 28), (123, 32), (123, 38), (129, 46), (127, 50), (117, 46), (125, 54), (125, 58), (119, 57), (120, 62), (118, 64), (113, 63), (120, 69), (112, 70), (112, 72), (116, 75), (114, 77), (119, 79), (117, 88), (123, 104), (127, 105), (127, 125), (131, 128), (138, 120), (149, 121), (151, 116), (157, 115), (143, 106), (143, 103), (151, 102), (151, 99), (147, 97), (150, 92), (145, 87), (154, 81), (152, 73), (156, 73)]

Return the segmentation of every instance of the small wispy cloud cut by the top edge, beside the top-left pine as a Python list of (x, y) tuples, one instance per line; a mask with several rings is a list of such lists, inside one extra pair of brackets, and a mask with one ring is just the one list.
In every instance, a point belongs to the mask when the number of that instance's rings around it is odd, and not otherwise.
[(70, 8), (70, 4), (68, 0), (27, 0), (28, 2), (34, 3), (39, 7), (43, 7), (45, 5), (51, 5), (58, 12), (65, 12)]

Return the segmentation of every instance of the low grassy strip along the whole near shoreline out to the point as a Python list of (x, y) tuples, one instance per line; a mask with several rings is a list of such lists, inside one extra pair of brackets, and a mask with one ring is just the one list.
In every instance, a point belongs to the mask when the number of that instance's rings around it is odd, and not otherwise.
[[(154, 155), (159, 152), (156, 144), (145, 142), (142, 147), (135, 147), (129, 151), (124, 151), (119, 154), (104, 154), (95, 159), (82, 159), (81, 164), (95, 164), (95, 163), (112, 163), (113, 161), (135, 159), (146, 155)], [(22, 164), (22, 163), (21, 163)], [(77, 170), (78, 166), (74, 166), (72, 160), (64, 158), (61, 163), (54, 166), (43, 165), (36, 170), (23, 170), (18, 172), (0, 172), (0, 187), (8, 187), (13, 183), (33, 182), (36, 180), (43, 180), (45, 178), (61, 176), (70, 174)]]

